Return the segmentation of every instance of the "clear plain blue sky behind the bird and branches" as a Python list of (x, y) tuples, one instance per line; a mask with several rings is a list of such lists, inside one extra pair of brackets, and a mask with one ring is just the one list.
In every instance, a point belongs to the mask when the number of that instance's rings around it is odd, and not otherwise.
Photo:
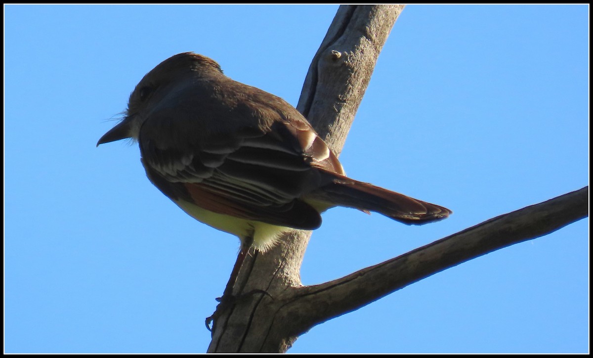
[[(5, 5), (4, 349), (201, 353), (238, 240), (95, 148), (155, 65), (194, 51), (296, 105), (337, 5)], [(589, 7), (409, 5), (340, 160), (454, 211), (408, 227), (336, 208), (316, 284), (588, 185)], [(290, 353), (586, 353), (589, 220), (314, 327)]]

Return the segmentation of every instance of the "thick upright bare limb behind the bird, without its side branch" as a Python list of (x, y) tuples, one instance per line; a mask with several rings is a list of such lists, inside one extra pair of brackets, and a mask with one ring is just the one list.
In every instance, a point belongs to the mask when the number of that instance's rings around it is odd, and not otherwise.
[[(297, 109), (339, 154), (371, 78), (382, 46), (404, 5), (343, 5), (309, 68)], [(264, 290), (280, 297), (301, 285), (300, 268), (310, 232), (286, 233), (275, 248), (254, 252), (244, 261), (235, 296)], [(295, 336), (290, 327), (269, 340), (276, 306), (269, 297), (251, 294), (231, 309), (217, 308), (209, 352), (286, 351)], [(280, 301), (278, 301), (280, 302)], [(220, 309), (220, 311), (219, 311)]]

